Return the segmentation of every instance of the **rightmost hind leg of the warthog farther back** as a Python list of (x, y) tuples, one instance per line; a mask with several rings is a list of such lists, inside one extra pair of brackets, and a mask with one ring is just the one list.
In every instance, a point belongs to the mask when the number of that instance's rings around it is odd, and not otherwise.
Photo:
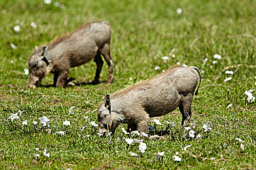
[(114, 60), (110, 55), (110, 44), (105, 44), (102, 49), (100, 49), (101, 54), (104, 56), (104, 59), (108, 63), (108, 84), (111, 84), (114, 81), (113, 75), (113, 67), (114, 67)]

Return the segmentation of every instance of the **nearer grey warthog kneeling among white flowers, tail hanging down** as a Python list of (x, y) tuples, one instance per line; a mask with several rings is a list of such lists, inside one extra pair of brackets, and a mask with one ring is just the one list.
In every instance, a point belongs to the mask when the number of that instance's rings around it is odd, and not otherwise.
[(177, 107), (182, 114), (181, 125), (186, 126), (192, 117), (190, 107), (200, 83), (197, 67), (174, 67), (152, 79), (107, 94), (98, 109), (99, 133), (114, 133), (120, 123), (127, 123), (128, 132), (138, 130), (147, 134), (150, 118), (170, 113)]

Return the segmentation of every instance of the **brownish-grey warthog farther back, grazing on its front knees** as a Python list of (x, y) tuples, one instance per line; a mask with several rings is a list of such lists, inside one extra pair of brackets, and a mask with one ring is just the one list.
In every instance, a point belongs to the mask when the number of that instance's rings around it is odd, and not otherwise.
[(111, 29), (107, 22), (93, 22), (83, 25), (71, 34), (56, 37), (48, 46), (40, 49), (36, 46), (28, 61), (30, 87), (39, 86), (42, 78), (49, 73), (54, 74), (54, 86), (68, 85), (70, 68), (85, 64), (91, 59), (97, 65), (93, 81), (93, 84), (97, 84), (103, 65), (100, 54), (108, 63), (108, 83), (112, 83), (114, 61), (110, 56), (110, 37)]

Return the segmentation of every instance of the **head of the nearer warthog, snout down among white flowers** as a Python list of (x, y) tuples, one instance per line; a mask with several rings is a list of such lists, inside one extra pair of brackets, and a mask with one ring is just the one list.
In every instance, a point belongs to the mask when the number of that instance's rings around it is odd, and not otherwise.
[(98, 132), (99, 134), (112, 134), (115, 132), (118, 125), (122, 122), (120, 115), (111, 111), (110, 95), (107, 94), (104, 103), (98, 109)]

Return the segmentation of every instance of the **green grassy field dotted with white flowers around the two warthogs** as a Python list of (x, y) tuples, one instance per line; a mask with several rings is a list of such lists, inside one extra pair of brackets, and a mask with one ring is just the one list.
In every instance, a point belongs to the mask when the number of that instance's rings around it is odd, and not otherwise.
[[(256, 0), (59, 0), (59, 4), (0, 0), (0, 169), (256, 169), (256, 101), (249, 102), (244, 94), (256, 88)], [(28, 88), (29, 75), (23, 69), (36, 45), (102, 20), (112, 28), (113, 85), (86, 84), (96, 71), (90, 61), (71, 69), (76, 86), (49, 87), (53, 75), (48, 75), (41, 87)], [(19, 32), (14, 30), (17, 25)], [(177, 62), (202, 72), (188, 126), (193, 131), (180, 128), (177, 109), (156, 118), (161, 125), (150, 122), (155, 130), (149, 136), (164, 139), (125, 135), (121, 130), (125, 124), (110, 138), (97, 135), (98, 127), (91, 122), (98, 123), (98, 106), (107, 93), (153, 77)], [(227, 70), (234, 74), (226, 74)], [(232, 79), (224, 81), (228, 77)], [(100, 78), (107, 81), (106, 62)], [(256, 91), (252, 94), (256, 96)], [(19, 110), (20, 119), (8, 119)], [(42, 117), (49, 124), (44, 126)], [(70, 125), (64, 125), (65, 120)], [(138, 142), (127, 144), (125, 138), (143, 139), (145, 153), (139, 151)]]

